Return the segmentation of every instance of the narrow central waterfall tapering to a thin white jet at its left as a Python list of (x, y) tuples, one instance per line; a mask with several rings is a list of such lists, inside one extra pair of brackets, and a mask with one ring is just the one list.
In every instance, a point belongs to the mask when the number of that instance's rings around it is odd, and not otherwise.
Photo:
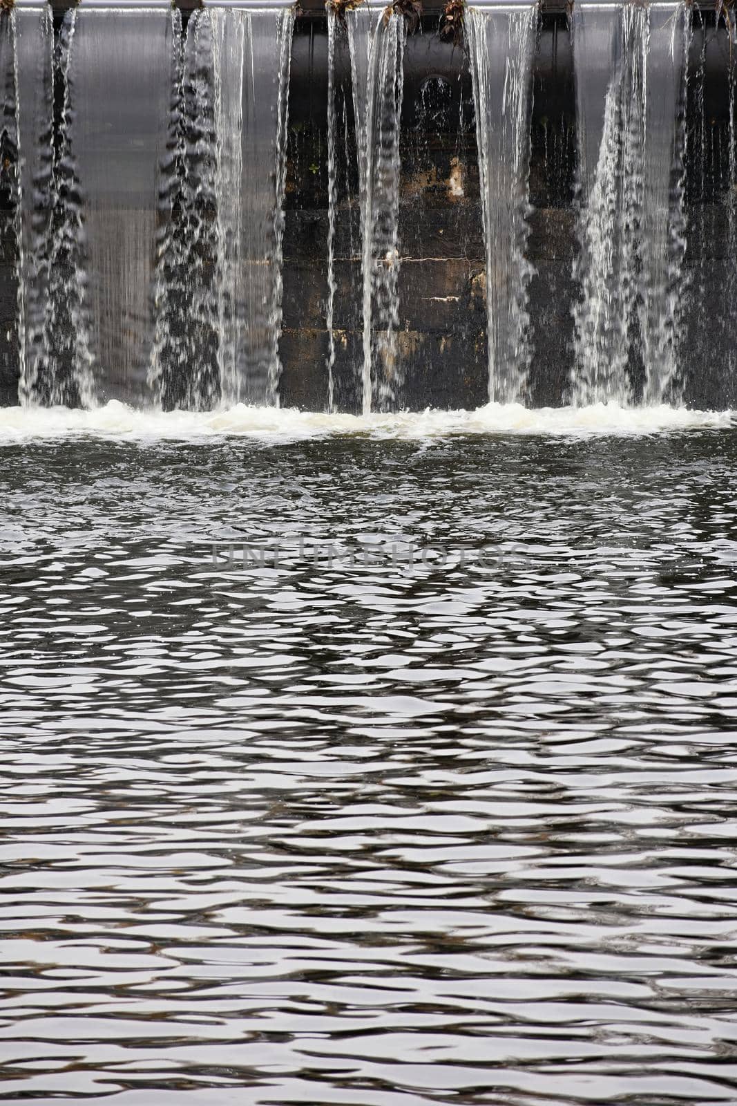
[(399, 140), (407, 29), (400, 14), (364, 3), (346, 12), (361, 208), (362, 410), (401, 400)]

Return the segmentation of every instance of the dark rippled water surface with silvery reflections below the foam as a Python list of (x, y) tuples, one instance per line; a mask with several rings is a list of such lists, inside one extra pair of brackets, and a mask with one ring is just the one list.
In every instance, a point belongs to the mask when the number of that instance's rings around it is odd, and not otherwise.
[(737, 1102), (735, 429), (0, 461), (4, 1100)]

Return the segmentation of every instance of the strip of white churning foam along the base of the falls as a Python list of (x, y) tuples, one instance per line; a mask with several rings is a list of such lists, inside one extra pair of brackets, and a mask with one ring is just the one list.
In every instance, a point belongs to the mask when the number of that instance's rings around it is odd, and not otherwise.
[(543, 407), (487, 404), (474, 411), (397, 415), (324, 415), (238, 404), (218, 411), (134, 410), (113, 399), (93, 410), (66, 407), (0, 408), (0, 444), (64, 437), (133, 440), (191, 440), (228, 436), (264, 442), (299, 441), (329, 436), (440, 438), (449, 435), (613, 435), (620, 437), (737, 425), (733, 411), (693, 411), (683, 407)]

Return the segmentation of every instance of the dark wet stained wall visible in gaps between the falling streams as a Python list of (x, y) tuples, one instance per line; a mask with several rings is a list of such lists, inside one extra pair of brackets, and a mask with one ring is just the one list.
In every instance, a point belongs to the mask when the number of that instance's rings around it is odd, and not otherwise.
[[(473, 97), (462, 48), (425, 15), (408, 41), (402, 117), (399, 348), (408, 406), (473, 407), (486, 399), (484, 246)], [(703, 25), (702, 25), (703, 24)], [(338, 83), (347, 74), (338, 72)], [(735, 234), (728, 232), (729, 48), (714, 17), (697, 17), (687, 112), (688, 252), (683, 289), (686, 396), (737, 407)], [(702, 111), (703, 104), (703, 111)], [(297, 20), (292, 64), (284, 234), (282, 403), (320, 409), (327, 396), (327, 34), (324, 15)], [(351, 112), (348, 109), (350, 124)], [(528, 255), (533, 365), (529, 401), (566, 399), (576, 250), (576, 108), (566, 15), (541, 18), (534, 74)], [(355, 161), (349, 140), (349, 160)], [(4, 174), (4, 176), (3, 176)], [(336, 236), (335, 394), (358, 408), (362, 358), (358, 185), (343, 189)], [(0, 403), (14, 403), (14, 239), (0, 164)], [(737, 292), (737, 288), (735, 288)], [(6, 337), (9, 335), (9, 337)]]

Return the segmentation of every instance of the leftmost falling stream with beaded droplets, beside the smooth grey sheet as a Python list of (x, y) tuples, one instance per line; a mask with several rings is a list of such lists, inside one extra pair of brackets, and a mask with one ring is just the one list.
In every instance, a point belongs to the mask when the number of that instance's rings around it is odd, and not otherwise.
[(6, 133), (17, 163), (19, 398), (25, 405), (92, 401), (83, 219), (71, 146), (76, 27), (77, 12), (67, 12), (54, 46), (48, 7), (19, 7), (0, 22)]

